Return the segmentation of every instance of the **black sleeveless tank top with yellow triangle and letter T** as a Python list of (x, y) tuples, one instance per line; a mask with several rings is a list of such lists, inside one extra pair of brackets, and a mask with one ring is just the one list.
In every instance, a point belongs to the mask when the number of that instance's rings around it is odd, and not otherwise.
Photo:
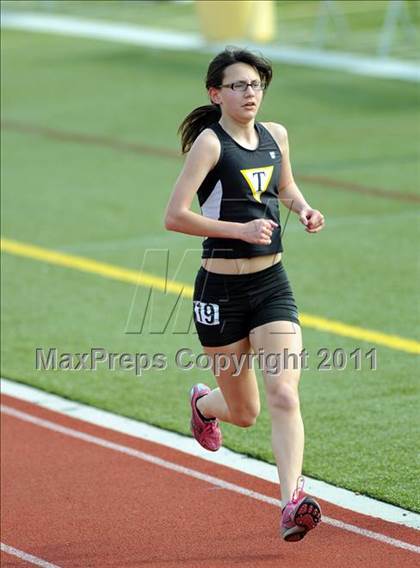
[(197, 195), (201, 214), (220, 221), (247, 223), (271, 219), (278, 223), (270, 245), (254, 245), (239, 239), (208, 237), (202, 258), (251, 258), (283, 250), (279, 213), (280, 149), (262, 124), (256, 123), (259, 144), (247, 150), (214, 123), (209, 126), (220, 140), (220, 158), (207, 174)]

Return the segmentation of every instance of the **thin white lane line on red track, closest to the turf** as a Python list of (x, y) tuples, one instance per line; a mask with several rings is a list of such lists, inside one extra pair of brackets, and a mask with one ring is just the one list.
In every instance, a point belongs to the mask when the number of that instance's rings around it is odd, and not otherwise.
[[(221, 489), (226, 489), (228, 491), (232, 491), (234, 493), (239, 493), (240, 495), (256, 499), (257, 501), (262, 501), (263, 503), (280, 507), (279, 499), (275, 499), (274, 497), (268, 497), (267, 495), (263, 495), (262, 493), (251, 491), (250, 489), (246, 489), (245, 487), (241, 487), (240, 485), (224, 481), (223, 479), (213, 477), (212, 475), (201, 473), (189, 467), (178, 465), (176, 463), (164, 460), (162, 458), (158, 458), (156, 456), (153, 456), (146, 452), (142, 452), (140, 450), (135, 450), (134, 448), (123, 446), (122, 444), (116, 444), (114, 442), (110, 442), (109, 440), (105, 440), (104, 438), (99, 438), (98, 436), (92, 436), (91, 434), (86, 434), (85, 432), (74, 430), (73, 428), (61, 426), (60, 424), (56, 424), (55, 422), (51, 422), (50, 420), (44, 420), (43, 418), (38, 418), (37, 416), (33, 416), (32, 414), (16, 410), (11, 406), (1, 405), (1, 412), (9, 416), (13, 416), (14, 418), (18, 418), (19, 420), (23, 420), (24, 422), (29, 422), (30, 424), (41, 426), (42, 428), (46, 428), (47, 430), (52, 430), (53, 432), (58, 432), (60, 434), (64, 434), (65, 436), (76, 438), (78, 440), (83, 440), (84, 442), (95, 444), (96, 446), (100, 446), (102, 448), (114, 450), (115, 452), (119, 452), (121, 454), (131, 456), (133, 458), (138, 458), (148, 463), (152, 463), (153, 465), (159, 465), (160, 467), (163, 467), (165, 469), (169, 469), (177, 473), (182, 473), (189, 477), (199, 479), (200, 481), (205, 481), (206, 483), (210, 483), (211, 485), (214, 485)], [(391, 538), (381, 533), (376, 533), (367, 529), (362, 529), (355, 525), (350, 525), (348, 523), (344, 523), (343, 521), (339, 521), (338, 519), (333, 519), (331, 517), (326, 517), (326, 516), (323, 516), (323, 522), (328, 525), (332, 525), (336, 528), (340, 528), (360, 536), (378, 540), (385, 544), (389, 544), (397, 548), (402, 548), (404, 550), (420, 554), (420, 546), (415, 546), (414, 544), (409, 544), (408, 542), (397, 540), (395, 538)]]

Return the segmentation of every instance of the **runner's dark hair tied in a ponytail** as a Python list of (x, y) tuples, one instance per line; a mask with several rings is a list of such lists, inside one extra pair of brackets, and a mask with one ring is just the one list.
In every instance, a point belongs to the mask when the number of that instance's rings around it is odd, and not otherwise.
[[(273, 70), (267, 59), (246, 49), (226, 48), (210, 62), (207, 70), (206, 89), (220, 87), (223, 83), (224, 70), (234, 63), (251, 65), (258, 71), (261, 81), (264, 81), (267, 87), (270, 84)], [(178, 129), (178, 133), (181, 134), (182, 153), (188, 152), (200, 132), (213, 122), (217, 122), (221, 116), (222, 112), (216, 103), (198, 107), (190, 112)]]

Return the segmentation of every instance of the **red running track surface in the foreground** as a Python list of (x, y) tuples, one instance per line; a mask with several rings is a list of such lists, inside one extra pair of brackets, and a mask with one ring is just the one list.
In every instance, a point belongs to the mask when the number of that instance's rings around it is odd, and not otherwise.
[[(8, 397), (2, 403), (278, 497), (272, 483)], [(413, 529), (321, 502), (323, 513), (418, 544)], [(321, 524), (278, 536), (273, 505), (2, 415), (2, 542), (68, 568), (418, 567), (418, 554)], [(28, 563), (2, 553), (4, 568)]]

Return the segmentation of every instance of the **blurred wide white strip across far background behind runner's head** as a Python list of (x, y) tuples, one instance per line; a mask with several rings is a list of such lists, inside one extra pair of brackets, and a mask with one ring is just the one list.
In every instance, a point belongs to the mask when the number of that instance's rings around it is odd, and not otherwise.
[[(18, 13), (5, 10), (2, 12), (1, 25), (3, 28), (9, 29), (115, 41), (158, 49), (215, 53), (225, 47), (224, 44), (208, 44), (199, 34), (152, 29), (130, 24), (106, 23), (65, 15), (40, 15), (31, 12)], [(254, 45), (249, 42), (244, 43), (241, 40), (235, 41), (235, 44), (261, 51), (272, 61), (290, 65), (305, 65), (369, 77), (420, 82), (420, 66), (399, 59), (367, 57), (341, 52), (331, 53), (298, 47)]]

